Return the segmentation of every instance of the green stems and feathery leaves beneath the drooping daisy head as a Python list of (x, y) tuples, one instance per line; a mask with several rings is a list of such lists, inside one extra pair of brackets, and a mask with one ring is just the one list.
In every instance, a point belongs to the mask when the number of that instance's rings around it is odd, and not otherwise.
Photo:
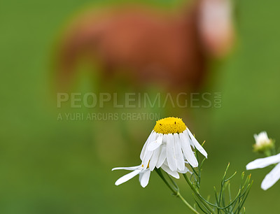
[(195, 149), (195, 156), (197, 157), (198, 167), (194, 169), (192, 166), (192, 174), (188, 176), (187, 173), (183, 173), (183, 177), (185, 178), (186, 182), (190, 186), (190, 189), (193, 191), (193, 197), (195, 200), (194, 206), (190, 206), (190, 204), (184, 199), (179, 192), (179, 187), (174, 181), (174, 179), (169, 176), (168, 173), (162, 171), (162, 169), (155, 169), (158, 175), (162, 180), (164, 180), (165, 184), (172, 190), (174, 196), (179, 197), (188, 208), (190, 208), (193, 213), (230, 213), (230, 214), (237, 214), (237, 213), (245, 213), (244, 203), (248, 197), (248, 193), (251, 190), (251, 185), (253, 181), (251, 181), (251, 174), (245, 176), (245, 173), (241, 173), (241, 182), (238, 187), (237, 194), (235, 197), (232, 197), (231, 185), (230, 180), (235, 177), (237, 172), (233, 173), (232, 176), (228, 176), (228, 169), (230, 164), (225, 169), (225, 173), (223, 174), (223, 178), (221, 180), (221, 187), (219, 190), (214, 187), (214, 202), (210, 202), (210, 197), (205, 199), (200, 194), (200, 183), (202, 178), (202, 165), (206, 158), (200, 159), (198, 157), (198, 152)]

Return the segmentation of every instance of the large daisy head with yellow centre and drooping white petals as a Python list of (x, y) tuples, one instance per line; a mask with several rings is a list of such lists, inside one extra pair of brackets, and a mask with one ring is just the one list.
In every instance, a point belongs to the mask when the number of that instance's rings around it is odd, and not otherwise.
[(113, 169), (133, 170), (133, 172), (118, 179), (116, 185), (120, 185), (139, 174), (141, 186), (146, 187), (150, 173), (155, 167), (161, 168), (170, 176), (179, 179), (179, 173), (188, 172), (186, 161), (193, 167), (198, 166), (192, 146), (207, 157), (207, 152), (180, 118), (167, 117), (158, 120), (141, 151), (141, 165)]

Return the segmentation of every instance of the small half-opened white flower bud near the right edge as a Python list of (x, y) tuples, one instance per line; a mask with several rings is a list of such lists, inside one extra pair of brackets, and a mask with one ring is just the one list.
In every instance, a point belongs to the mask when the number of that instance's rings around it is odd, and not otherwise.
[(263, 152), (274, 147), (274, 141), (271, 138), (268, 138), (266, 131), (262, 131), (260, 134), (254, 134), (254, 138), (255, 144), (253, 145), (253, 148), (257, 152)]

